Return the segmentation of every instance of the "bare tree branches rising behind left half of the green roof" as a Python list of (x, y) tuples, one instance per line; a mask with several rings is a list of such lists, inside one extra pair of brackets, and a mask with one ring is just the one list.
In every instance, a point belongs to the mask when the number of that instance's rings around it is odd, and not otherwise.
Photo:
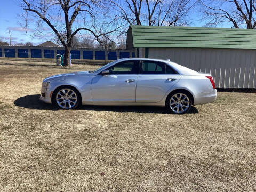
[[(120, 17), (130, 25), (186, 25), (194, 0), (112, 0)], [(124, 7), (123, 4), (126, 6)]]

